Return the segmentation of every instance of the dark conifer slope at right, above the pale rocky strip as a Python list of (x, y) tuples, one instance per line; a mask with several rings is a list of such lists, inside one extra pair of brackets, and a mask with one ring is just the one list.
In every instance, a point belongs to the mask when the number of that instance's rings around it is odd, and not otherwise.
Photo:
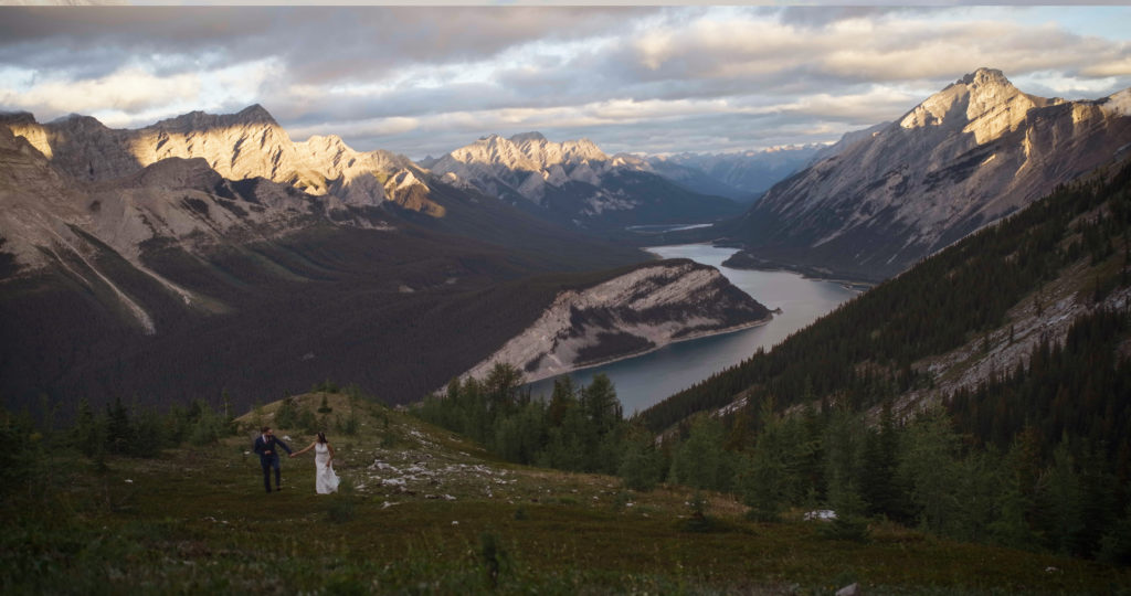
[(772, 396), (779, 406), (814, 399), (874, 407), (931, 375), (914, 364), (1009, 326), (1007, 311), (1069, 266), (1086, 262), (1080, 295), (1098, 304), (1129, 283), (1131, 167), (1063, 187), (1008, 221), (931, 257), (844, 304), (768, 353), (642, 413), (654, 431), (687, 416)]

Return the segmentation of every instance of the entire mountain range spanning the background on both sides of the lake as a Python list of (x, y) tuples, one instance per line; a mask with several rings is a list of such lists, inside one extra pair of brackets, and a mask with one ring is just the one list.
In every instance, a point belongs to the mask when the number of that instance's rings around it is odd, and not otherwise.
[[(682, 321), (663, 337), (630, 332), (642, 319), (612, 303), (539, 335), (570, 292), (634, 287), (649, 258), (624, 227), (714, 221), (675, 237), (741, 244), (735, 265), (879, 280), (1125, 155), (1129, 106), (1131, 90), (1050, 100), (981, 69), (897, 122), (805, 148), (812, 165), (743, 214), (584, 139), (489, 136), (417, 164), (292, 141), (258, 105), (137, 130), (0, 114), (0, 390), (250, 403), (320, 374), (398, 403), (493, 354), (534, 372), (638, 353), (750, 325), (761, 305), (718, 318), (699, 292), (724, 304), (725, 285), (676, 279), (683, 294), (644, 320)], [(504, 349), (530, 334), (585, 339)]]

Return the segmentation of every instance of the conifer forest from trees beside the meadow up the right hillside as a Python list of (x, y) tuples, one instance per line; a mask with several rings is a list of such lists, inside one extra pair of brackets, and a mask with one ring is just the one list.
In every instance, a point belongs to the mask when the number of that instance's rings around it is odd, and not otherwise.
[[(590, 404), (615, 395), (607, 379), (559, 379), (542, 401), (498, 366), (417, 412), (513, 461), (729, 492), (759, 519), (828, 507), (826, 528), (841, 537), (866, 538), (867, 520), (887, 518), (1128, 564), (1131, 310), (1099, 302), (1131, 286), (1129, 232), (1131, 166), (1057, 188), (632, 420), (614, 407), (594, 417)], [(1044, 338), (1027, 364), (917, 417), (892, 414), (907, 391), (932, 389), (914, 363), (1005, 340), (1010, 309), (1031, 301), (1041, 317), (1041, 288), (1069, 267), (1087, 276), (1077, 301), (1096, 308), (1063, 343)], [(708, 414), (740, 397), (744, 407)]]

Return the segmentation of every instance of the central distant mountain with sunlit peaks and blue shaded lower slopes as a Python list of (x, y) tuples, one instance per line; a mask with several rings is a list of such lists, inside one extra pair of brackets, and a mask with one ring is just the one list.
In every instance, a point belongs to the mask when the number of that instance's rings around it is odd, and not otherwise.
[(741, 210), (726, 198), (653, 173), (638, 158), (610, 157), (587, 139), (553, 142), (537, 132), (509, 139), (492, 135), (422, 165), (444, 182), (595, 231), (709, 222)]

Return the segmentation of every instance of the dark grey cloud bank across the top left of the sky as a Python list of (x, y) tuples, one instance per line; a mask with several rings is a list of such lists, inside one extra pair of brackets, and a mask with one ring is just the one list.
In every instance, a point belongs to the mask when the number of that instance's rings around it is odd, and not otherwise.
[(205, 57), (209, 66), (275, 55), (290, 64), (294, 80), (318, 84), (371, 78), (411, 63), (481, 60), (537, 40), (614, 32), (625, 20), (654, 10), (8, 7), (0, 8), (0, 59), (9, 64), (97, 76), (139, 54)]

